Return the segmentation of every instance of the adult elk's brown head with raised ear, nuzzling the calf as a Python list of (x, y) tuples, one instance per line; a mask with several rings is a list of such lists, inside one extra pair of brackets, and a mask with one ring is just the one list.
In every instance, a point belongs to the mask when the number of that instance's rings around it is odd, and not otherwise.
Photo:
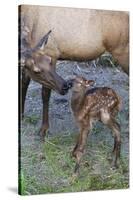
[(50, 33), (51, 30), (34, 48), (26, 49), (22, 53), (23, 65), (34, 81), (64, 95), (67, 93), (69, 86), (67, 82), (55, 72), (55, 68), (52, 65), (52, 58), (44, 53)]

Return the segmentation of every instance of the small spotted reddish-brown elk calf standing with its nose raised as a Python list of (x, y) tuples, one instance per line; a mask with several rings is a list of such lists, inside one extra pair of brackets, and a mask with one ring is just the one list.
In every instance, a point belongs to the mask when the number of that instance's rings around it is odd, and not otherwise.
[(76, 77), (72, 82), (71, 107), (80, 128), (79, 138), (72, 152), (76, 158), (75, 172), (79, 170), (80, 160), (93, 121), (103, 122), (113, 132), (113, 167), (117, 167), (117, 159), (120, 157), (120, 125), (115, 116), (120, 111), (121, 99), (111, 88), (89, 88), (93, 84), (93, 80), (86, 80), (83, 77)]

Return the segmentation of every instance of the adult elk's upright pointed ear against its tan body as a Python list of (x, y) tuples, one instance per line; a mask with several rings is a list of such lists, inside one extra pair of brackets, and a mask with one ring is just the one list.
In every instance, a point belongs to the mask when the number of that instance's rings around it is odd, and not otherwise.
[(44, 35), (41, 40), (38, 42), (38, 44), (33, 48), (33, 51), (36, 51), (36, 50), (44, 50), (44, 47), (45, 45), (47, 44), (48, 42), (48, 38), (49, 38), (49, 35), (52, 31), (50, 30), (46, 35)]

